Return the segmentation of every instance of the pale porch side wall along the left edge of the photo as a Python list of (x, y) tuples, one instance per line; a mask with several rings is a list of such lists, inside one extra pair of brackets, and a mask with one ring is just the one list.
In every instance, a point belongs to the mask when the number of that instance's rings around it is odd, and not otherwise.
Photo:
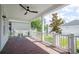
[(0, 51), (5, 46), (8, 41), (9, 30), (8, 30), (8, 19), (5, 20), (2, 18), (3, 15), (3, 6), (0, 5)]

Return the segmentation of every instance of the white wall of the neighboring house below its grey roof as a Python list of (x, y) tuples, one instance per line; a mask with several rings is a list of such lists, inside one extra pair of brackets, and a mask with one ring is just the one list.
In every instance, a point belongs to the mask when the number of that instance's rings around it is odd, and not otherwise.
[(79, 35), (79, 25), (62, 26), (62, 33)]

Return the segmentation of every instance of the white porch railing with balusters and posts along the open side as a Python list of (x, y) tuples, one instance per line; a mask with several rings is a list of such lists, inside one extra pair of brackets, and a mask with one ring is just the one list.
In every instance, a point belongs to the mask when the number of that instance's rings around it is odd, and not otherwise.
[[(45, 38), (44, 36), (44, 42), (48, 42), (53, 44), (53, 41), (56, 40), (55, 44), (56, 47), (62, 48), (68, 52), (71, 53), (78, 53), (79, 51), (79, 36), (74, 36), (73, 34), (70, 35), (58, 35), (54, 39), (53, 34), (46, 34), (44, 33), (45, 36), (51, 35), (51, 40), (49, 38)], [(42, 33), (41, 32), (31, 32), (31, 36), (35, 37), (39, 41), (42, 40)]]

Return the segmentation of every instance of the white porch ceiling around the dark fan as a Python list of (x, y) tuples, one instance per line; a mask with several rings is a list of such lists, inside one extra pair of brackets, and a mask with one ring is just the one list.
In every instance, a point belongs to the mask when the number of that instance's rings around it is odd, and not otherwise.
[(13, 20), (31, 20), (35, 17), (44, 15), (50, 11), (64, 6), (64, 4), (23, 4), (23, 6), (29, 6), (31, 10), (38, 11), (38, 13), (27, 13), (18, 4), (4, 4), (2, 5), (4, 9), (4, 15)]

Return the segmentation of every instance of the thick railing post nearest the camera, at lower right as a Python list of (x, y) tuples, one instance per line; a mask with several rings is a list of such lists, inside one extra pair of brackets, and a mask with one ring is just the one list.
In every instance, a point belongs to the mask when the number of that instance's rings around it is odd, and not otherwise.
[(76, 53), (76, 41), (75, 41), (75, 38), (74, 38), (74, 34), (70, 34), (69, 35), (69, 52), (71, 54), (74, 54)]

